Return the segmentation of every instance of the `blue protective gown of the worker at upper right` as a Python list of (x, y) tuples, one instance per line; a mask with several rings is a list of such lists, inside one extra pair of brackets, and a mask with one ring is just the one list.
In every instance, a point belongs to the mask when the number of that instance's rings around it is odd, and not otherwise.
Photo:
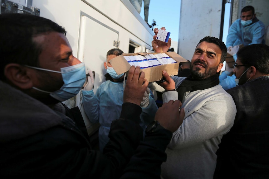
[(246, 46), (264, 43), (264, 24), (256, 17), (252, 21), (254, 23), (249, 26), (243, 26), (241, 24), (241, 19), (237, 19), (234, 23), (232, 23), (226, 40), (227, 48), (229, 46), (233, 47), (240, 44)]

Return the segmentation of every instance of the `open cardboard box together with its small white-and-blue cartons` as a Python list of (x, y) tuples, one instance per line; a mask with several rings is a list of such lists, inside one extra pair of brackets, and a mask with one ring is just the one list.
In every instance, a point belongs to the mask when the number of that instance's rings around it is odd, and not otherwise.
[[(167, 60), (169, 63), (160, 64), (157, 58), (154, 58), (155, 54), (162, 54), (162, 61)], [(181, 57), (175, 52), (166, 52), (166, 53), (131, 53), (119, 55), (114, 59), (111, 59), (109, 62), (112, 67), (115, 69), (116, 73), (122, 74), (128, 72), (131, 65), (134, 65), (138, 58), (133, 58), (134, 56), (141, 55), (140, 59), (144, 59), (144, 64), (139, 65), (140, 72), (145, 73), (145, 79), (149, 82), (159, 81), (163, 78), (162, 71), (165, 70), (170, 76), (177, 75), (179, 71), (179, 62), (186, 62), (187, 60)], [(126, 57), (128, 56), (128, 58)], [(160, 56), (160, 55), (156, 55)], [(171, 63), (171, 60), (174, 59), (174, 63)], [(133, 60), (133, 61), (132, 61)], [(143, 60), (142, 60), (143, 61)], [(141, 63), (141, 61), (139, 61)], [(138, 62), (138, 63), (139, 63)], [(150, 64), (148, 67), (145, 64)], [(144, 68), (141, 68), (142, 65)]]

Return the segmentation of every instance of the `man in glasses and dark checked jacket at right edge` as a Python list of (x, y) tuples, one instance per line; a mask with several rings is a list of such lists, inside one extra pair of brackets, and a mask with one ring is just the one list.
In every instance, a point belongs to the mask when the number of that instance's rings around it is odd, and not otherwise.
[(269, 176), (269, 47), (242, 47), (234, 69), (237, 87), (227, 92), (237, 114), (219, 144), (214, 178), (265, 179)]

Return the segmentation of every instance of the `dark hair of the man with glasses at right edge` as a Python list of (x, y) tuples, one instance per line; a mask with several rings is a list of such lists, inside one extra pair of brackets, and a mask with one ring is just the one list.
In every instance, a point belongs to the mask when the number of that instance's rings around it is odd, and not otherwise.
[(260, 73), (269, 74), (269, 46), (252, 44), (242, 47), (237, 52), (237, 59), (247, 68), (254, 66)]

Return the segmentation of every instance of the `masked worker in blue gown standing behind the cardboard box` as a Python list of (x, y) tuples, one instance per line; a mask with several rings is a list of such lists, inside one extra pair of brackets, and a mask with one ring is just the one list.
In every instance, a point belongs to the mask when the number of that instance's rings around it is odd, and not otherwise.
[[(96, 94), (93, 92), (94, 78), (92, 72), (89, 71), (88, 83), (82, 90), (82, 104), (86, 115), (90, 122), (100, 123), (99, 128), (99, 150), (103, 148), (109, 141), (110, 125), (113, 120), (119, 119), (121, 107), (123, 104), (124, 91), (124, 74), (117, 75), (112, 65), (109, 63), (113, 59), (123, 53), (120, 49), (110, 49), (106, 54), (106, 62), (104, 66), (106, 69), (105, 79), (100, 87), (98, 87)], [(140, 104), (142, 113), (140, 115), (140, 126), (146, 129), (150, 122), (154, 121), (154, 116), (158, 107), (154, 101), (153, 94), (147, 88), (144, 98)]]

